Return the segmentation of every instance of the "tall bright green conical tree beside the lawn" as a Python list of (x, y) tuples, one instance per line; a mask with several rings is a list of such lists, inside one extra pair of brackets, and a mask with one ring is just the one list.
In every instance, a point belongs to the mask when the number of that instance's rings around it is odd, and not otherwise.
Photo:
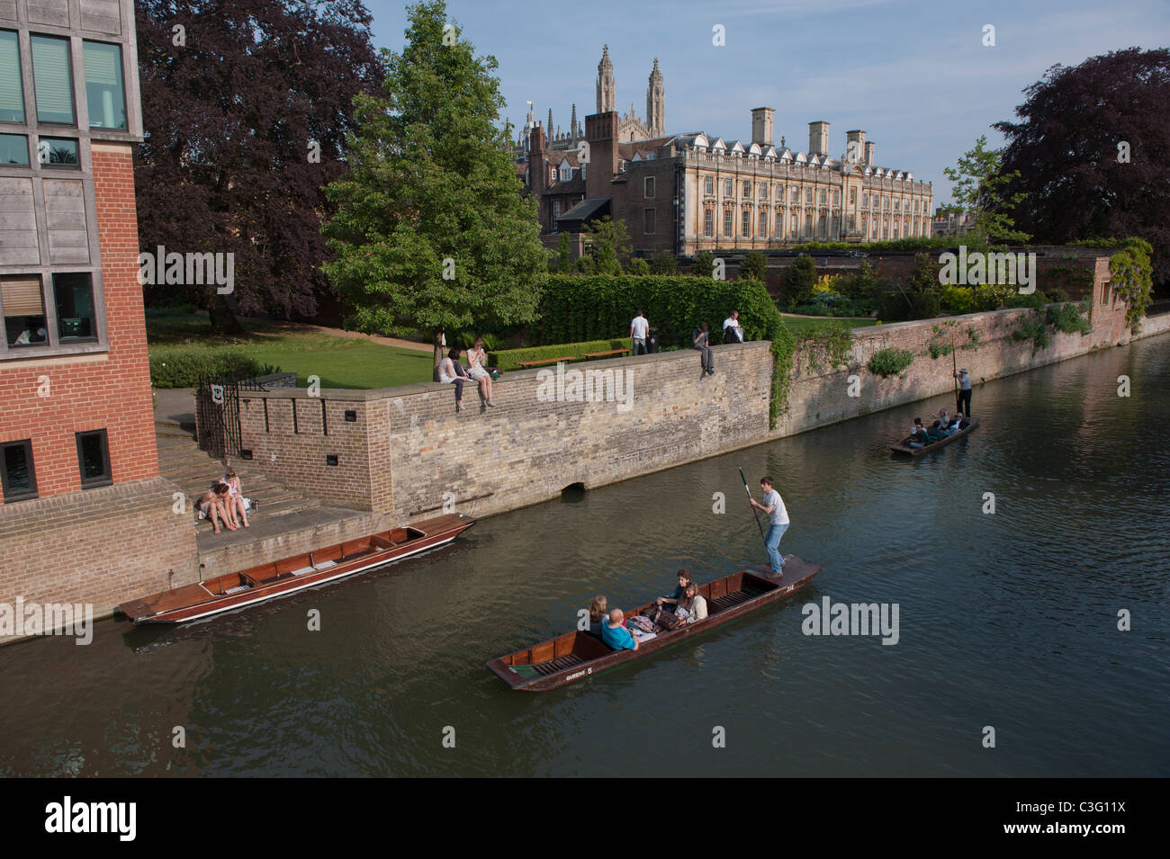
[(498, 123), (496, 61), (476, 57), (442, 0), (411, 6), (406, 46), (383, 50), (380, 96), (358, 96), (352, 171), (326, 193), (336, 259), (325, 273), (367, 332), (445, 332), (532, 321), (546, 251)]

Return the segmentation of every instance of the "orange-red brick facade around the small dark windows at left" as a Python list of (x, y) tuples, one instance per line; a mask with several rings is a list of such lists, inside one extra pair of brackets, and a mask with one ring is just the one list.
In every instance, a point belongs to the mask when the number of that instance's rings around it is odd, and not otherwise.
[(0, 441), (32, 439), (42, 498), (81, 489), (75, 432), (106, 430), (116, 484), (158, 474), (130, 146), (95, 144), (94, 181), (109, 353), (0, 363)]

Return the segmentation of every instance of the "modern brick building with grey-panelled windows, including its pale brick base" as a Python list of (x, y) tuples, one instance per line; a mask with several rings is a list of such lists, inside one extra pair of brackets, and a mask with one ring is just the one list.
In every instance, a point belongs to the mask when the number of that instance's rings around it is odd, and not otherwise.
[(154, 448), (142, 139), (132, 0), (0, 0), (0, 603), (104, 614), (193, 574)]

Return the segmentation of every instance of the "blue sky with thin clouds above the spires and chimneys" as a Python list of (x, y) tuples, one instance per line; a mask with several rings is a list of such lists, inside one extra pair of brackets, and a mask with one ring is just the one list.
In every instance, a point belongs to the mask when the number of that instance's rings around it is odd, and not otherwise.
[[(365, 0), (374, 44), (400, 49), (400, 0)], [(776, 110), (776, 139), (807, 150), (808, 123), (830, 127), (830, 154), (845, 132), (866, 131), (879, 166), (934, 182), (950, 199), (943, 168), (979, 134), (1013, 120), (1023, 90), (1057, 63), (1129, 47), (1170, 47), (1170, 0), (448, 0), (448, 15), (493, 55), (504, 115), (567, 131), (596, 111), (597, 64), (610, 46), (620, 112), (645, 119), (647, 78), (658, 57), (668, 133), (704, 131), (751, 139), (751, 109)], [(985, 26), (994, 46), (985, 46)], [(722, 46), (716, 27), (722, 27)]]

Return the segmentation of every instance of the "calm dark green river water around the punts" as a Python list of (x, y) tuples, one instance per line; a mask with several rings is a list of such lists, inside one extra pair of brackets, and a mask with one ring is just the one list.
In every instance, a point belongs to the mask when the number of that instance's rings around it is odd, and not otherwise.
[[(985, 423), (921, 462), (885, 445), (948, 397), (494, 517), (201, 625), (0, 649), (0, 774), (1170, 775), (1168, 377), (1152, 338), (977, 388)], [(812, 588), (566, 690), (487, 671), (597, 593), (760, 562), (738, 465), (777, 478), (782, 548), (825, 564)], [(804, 636), (824, 596), (899, 603), (899, 643)]]

